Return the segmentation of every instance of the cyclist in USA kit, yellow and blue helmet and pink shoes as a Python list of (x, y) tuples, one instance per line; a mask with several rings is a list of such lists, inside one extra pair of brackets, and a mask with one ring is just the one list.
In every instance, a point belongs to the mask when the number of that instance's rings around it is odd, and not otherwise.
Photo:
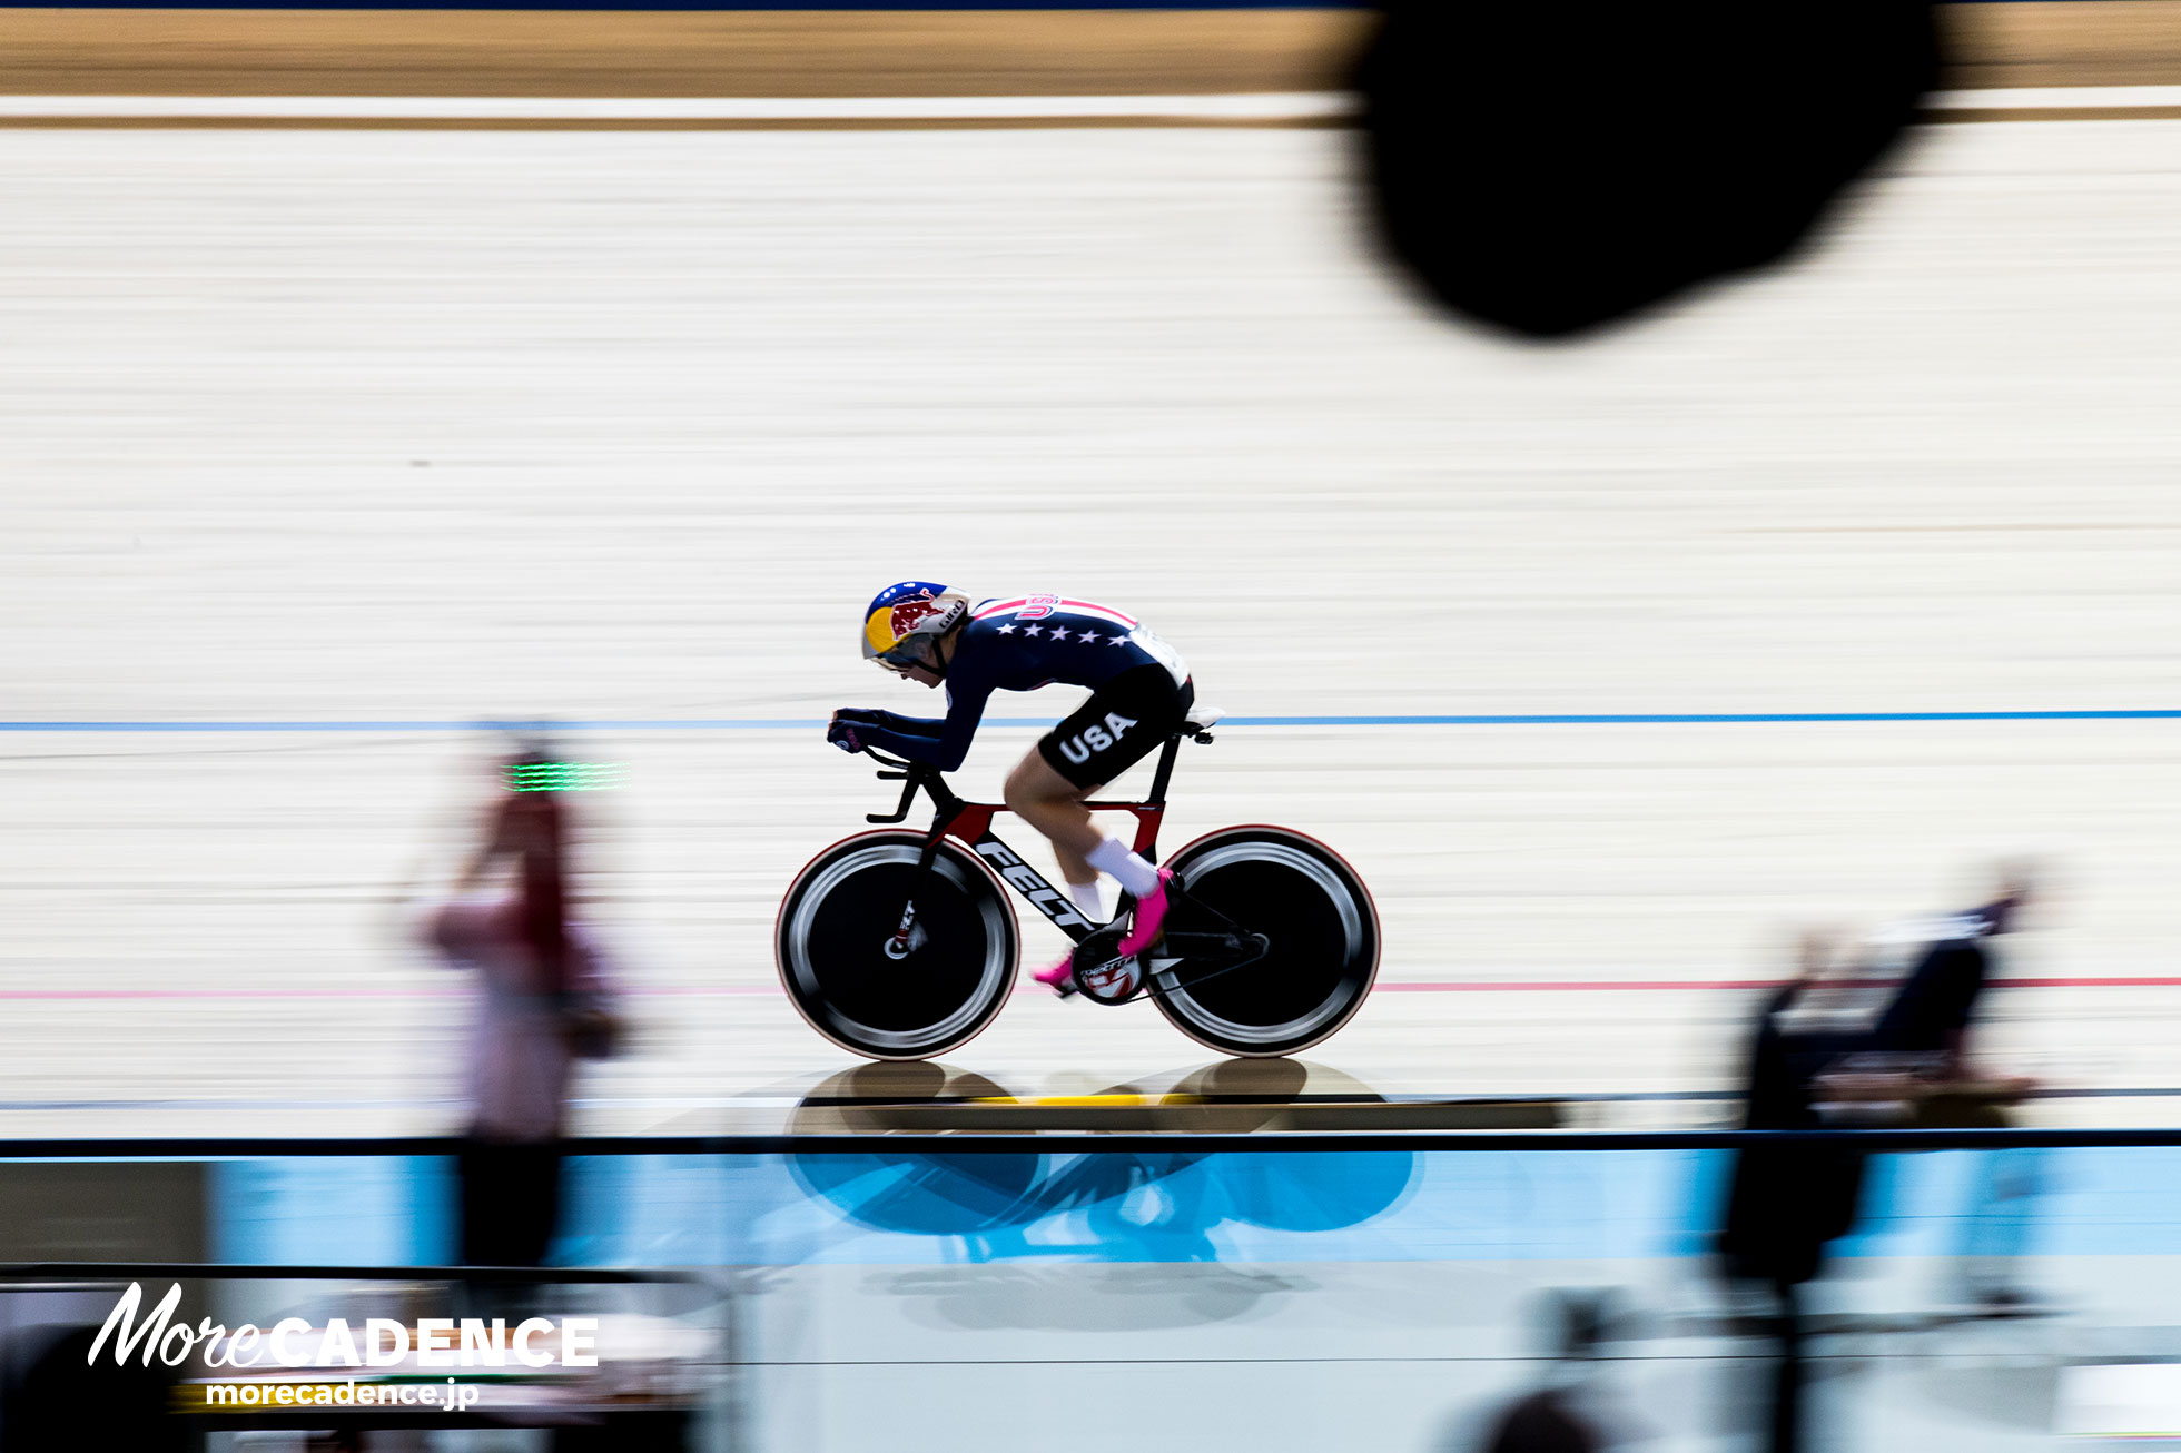
[[(942, 772), (962, 766), (995, 689), (1034, 692), (1067, 683), (1090, 687), (1090, 700), (1045, 733), (1008, 772), (1008, 809), (1053, 844), (1069, 899), (1104, 923), (1099, 875), (1134, 899), (1121, 956), (1143, 953), (1160, 938), (1171, 873), (1154, 868), (1125, 842), (1090, 822), (1084, 798), (1141, 761), (1189, 718), (1195, 687), (1171, 646), (1134, 617), (1088, 600), (1016, 596), (981, 600), (929, 580), (901, 580), (872, 596), (864, 611), (864, 659), (896, 676), (947, 687), (938, 720), (842, 707), (827, 742), (857, 753), (877, 746)], [(1062, 993), (1069, 960), (1034, 975)]]

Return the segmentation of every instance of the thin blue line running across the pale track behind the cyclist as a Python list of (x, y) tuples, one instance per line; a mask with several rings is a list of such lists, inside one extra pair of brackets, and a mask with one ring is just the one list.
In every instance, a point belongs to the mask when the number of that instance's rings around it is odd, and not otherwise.
[[(1051, 726), (1049, 716), (990, 716), (986, 726)], [(1221, 726), (1758, 726), (1782, 722), (2172, 722), (2181, 709), (2113, 711), (1629, 711), (1516, 716), (1230, 716)], [(270, 720), (270, 722), (7, 722), (0, 731), (172, 733), (172, 731), (816, 731), (824, 718), (587, 718), (587, 720)]]

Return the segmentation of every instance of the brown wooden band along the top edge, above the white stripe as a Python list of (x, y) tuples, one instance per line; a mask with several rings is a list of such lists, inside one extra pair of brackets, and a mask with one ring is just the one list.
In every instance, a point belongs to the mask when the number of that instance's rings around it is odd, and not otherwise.
[[(2181, 83), (2181, 2), (1945, 7), (1954, 87)], [(1363, 9), (0, 9), (0, 94), (1138, 96), (1341, 85)]]

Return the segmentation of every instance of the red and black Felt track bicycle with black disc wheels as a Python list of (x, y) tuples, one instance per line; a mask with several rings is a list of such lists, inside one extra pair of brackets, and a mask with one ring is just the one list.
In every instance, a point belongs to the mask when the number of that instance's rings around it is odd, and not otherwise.
[[(1195, 709), (1160, 746), (1141, 803), (1090, 801), (1136, 818), (1134, 851), (1158, 862), (1158, 825), (1184, 740), (1210, 742), (1217, 711)], [(1016, 921), (1005, 888), (1075, 942), (1073, 990), (1095, 1004), (1152, 999), (1189, 1038), (1234, 1056), (1309, 1049), (1348, 1023), (1378, 975), (1378, 910), (1339, 853), (1287, 827), (1224, 827), (1180, 849), (1165, 936), (1121, 958), (1130, 901), (1088, 923), (1023, 862), (992, 818), (944, 774), (866, 748), (901, 803), (868, 822), (905, 822), (916, 796), (925, 831), (855, 833), (796, 875), (774, 923), (781, 984), (829, 1041), (875, 1060), (925, 1060), (968, 1043), (1005, 1006)], [(1005, 888), (1003, 888), (1005, 886)]]

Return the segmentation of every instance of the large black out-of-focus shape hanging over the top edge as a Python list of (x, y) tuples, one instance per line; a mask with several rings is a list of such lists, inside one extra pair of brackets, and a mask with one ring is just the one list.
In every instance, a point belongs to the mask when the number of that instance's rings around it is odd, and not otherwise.
[(1357, 70), (1378, 231), (1448, 308), (1579, 334), (1786, 257), (1937, 70), (1904, 0), (1394, 0)]

